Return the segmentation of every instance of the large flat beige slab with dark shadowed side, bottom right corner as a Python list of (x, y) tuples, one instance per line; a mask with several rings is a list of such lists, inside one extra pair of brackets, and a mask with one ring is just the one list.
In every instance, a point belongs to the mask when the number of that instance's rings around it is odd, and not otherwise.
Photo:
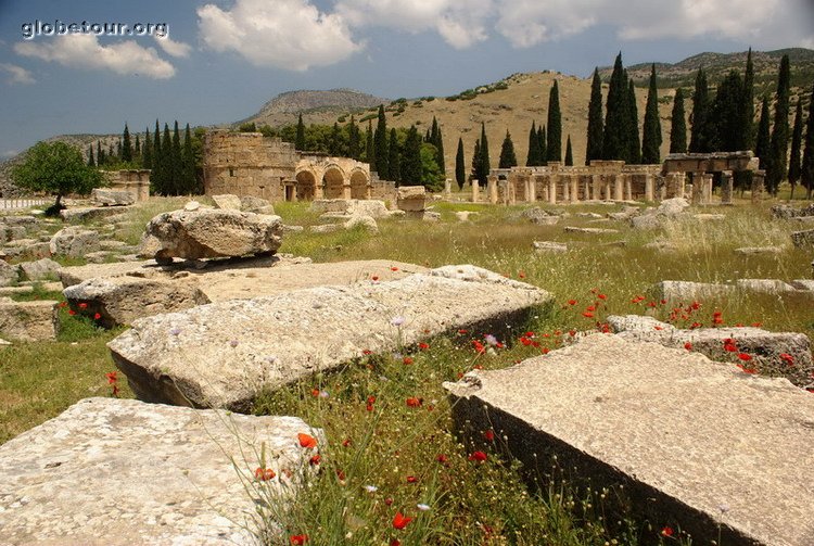
[[(456, 430), (494, 430), (527, 468), (557, 466), (692, 543), (807, 546), (814, 395), (654, 343), (594, 334), (450, 394)], [(584, 483), (584, 482), (581, 482)], [(656, 539), (656, 536), (652, 537)]]

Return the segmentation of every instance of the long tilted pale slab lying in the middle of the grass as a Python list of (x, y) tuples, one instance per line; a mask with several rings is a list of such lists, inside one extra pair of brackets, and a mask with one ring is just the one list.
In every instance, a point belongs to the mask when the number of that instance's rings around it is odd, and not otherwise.
[(550, 301), (531, 284), (448, 266), (143, 318), (107, 346), (140, 399), (246, 410), (260, 391), (364, 351), (382, 354), (460, 328), (505, 331)]

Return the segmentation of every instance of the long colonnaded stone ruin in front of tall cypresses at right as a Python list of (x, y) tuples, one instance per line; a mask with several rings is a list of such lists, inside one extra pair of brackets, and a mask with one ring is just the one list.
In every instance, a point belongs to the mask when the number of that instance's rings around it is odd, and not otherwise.
[[(712, 203), (712, 175), (723, 174), (722, 204), (732, 203), (733, 172), (751, 170), (752, 200), (761, 199), (765, 173), (752, 152), (671, 154), (660, 165), (626, 165), (623, 161), (594, 160), (587, 166), (548, 162), (540, 167), (492, 169), (486, 196), (492, 204), (543, 201), (549, 204), (582, 201), (664, 201), (684, 198), (694, 204)], [(686, 176), (690, 175), (690, 185)], [(481, 201), (482, 186), (472, 181), (472, 201)]]

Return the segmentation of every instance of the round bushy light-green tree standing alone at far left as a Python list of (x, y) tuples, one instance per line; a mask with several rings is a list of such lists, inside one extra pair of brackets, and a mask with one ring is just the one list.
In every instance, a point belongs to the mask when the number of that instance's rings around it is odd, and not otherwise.
[(56, 195), (48, 214), (58, 215), (62, 198), (71, 193), (88, 194), (102, 185), (102, 174), (85, 163), (78, 148), (65, 142), (37, 142), (11, 168), (11, 178), (20, 188)]

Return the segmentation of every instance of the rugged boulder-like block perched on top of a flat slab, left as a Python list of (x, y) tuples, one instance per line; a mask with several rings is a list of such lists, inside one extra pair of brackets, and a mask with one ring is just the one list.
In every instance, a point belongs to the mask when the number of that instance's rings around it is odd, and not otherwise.
[(174, 211), (150, 220), (147, 233), (161, 241), (160, 258), (274, 254), (282, 242), (282, 221), (239, 211)]

